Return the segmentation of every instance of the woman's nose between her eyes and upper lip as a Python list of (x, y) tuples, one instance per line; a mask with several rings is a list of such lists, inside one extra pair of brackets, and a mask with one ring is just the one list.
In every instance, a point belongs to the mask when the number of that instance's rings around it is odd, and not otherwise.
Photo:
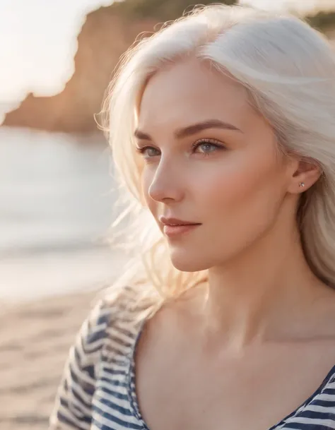
[(161, 159), (148, 188), (148, 195), (160, 203), (181, 201), (184, 198), (181, 173), (180, 168)]

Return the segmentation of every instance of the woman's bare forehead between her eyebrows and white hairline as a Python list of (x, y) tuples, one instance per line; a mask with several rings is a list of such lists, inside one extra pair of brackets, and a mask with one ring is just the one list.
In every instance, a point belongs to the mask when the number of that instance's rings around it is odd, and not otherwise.
[(148, 81), (139, 106), (139, 128), (178, 127), (213, 118), (242, 128), (253, 113), (242, 85), (209, 62), (189, 59), (163, 68)]

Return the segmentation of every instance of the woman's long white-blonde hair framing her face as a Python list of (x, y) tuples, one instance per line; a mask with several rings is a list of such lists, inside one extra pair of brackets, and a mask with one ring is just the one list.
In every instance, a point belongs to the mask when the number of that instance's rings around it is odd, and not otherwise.
[[(247, 88), (269, 121), (278, 145), (317, 163), (322, 176), (301, 199), (297, 220), (314, 273), (335, 285), (335, 61), (331, 46), (307, 23), (287, 14), (242, 6), (195, 8), (124, 54), (105, 100), (107, 132), (117, 180), (127, 196), (133, 258), (117, 285), (138, 282), (155, 309), (206, 281), (206, 271), (172, 267), (141, 193), (141, 162), (134, 150), (136, 107), (148, 79), (184, 56), (210, 61)], [(134, 216), (131, 217), (131, 214)], [(129, 216), (128, 216), (129, 215)], [(129, 231), (129, 227), (127, 227)], [(117, 285), (115, 287), (117, 287)]]

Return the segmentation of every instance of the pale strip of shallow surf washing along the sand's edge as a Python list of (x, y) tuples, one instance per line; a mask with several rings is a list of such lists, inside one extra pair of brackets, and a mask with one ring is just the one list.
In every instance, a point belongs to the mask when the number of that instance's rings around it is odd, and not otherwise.
[(112, 285), (127, 256), (112, 247), (0, 259), (0, 303), (16, 304), (81, 294)]

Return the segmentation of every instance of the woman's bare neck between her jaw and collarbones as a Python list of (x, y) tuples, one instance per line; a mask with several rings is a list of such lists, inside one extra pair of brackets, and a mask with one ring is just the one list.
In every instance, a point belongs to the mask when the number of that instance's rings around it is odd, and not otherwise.
[(206, 329), (225, 333), (235, 348), (285, 338), (327, 289), (305, 261), (298, 227), (283, 224), (211, 268), (208, 280)]

